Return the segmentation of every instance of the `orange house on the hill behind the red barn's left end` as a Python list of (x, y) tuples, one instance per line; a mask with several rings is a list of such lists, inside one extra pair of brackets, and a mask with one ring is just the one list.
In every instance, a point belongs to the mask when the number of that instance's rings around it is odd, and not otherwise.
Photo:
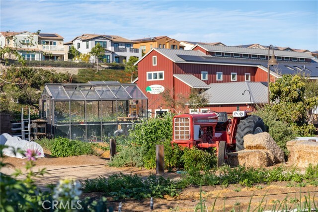
[(175, 39), (171, 39), (168, 36), (141, 38), (133, 41), (134, 48), (140, 49), (144, 53), (148, 53), (153, 48), (180, 49), (180, 42)]

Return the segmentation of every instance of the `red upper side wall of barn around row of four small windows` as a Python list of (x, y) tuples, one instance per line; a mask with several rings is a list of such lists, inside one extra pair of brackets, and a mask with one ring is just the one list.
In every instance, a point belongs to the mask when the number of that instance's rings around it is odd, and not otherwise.
[[(237, 73), (237, 81), (245, 81), (245, 73), (250, 73), (251, 81), (255, 81), (257, 67), (229, 66), (229, 65), (208, 65), (208, 64), (173, 64), (173, 73), (187, 73), (201, 79), (201, 71), (208, 71), (206, 84), (231, 81), (231, 72)], [(217, 81), (216, 72), (223, 72), (223, 80)]]

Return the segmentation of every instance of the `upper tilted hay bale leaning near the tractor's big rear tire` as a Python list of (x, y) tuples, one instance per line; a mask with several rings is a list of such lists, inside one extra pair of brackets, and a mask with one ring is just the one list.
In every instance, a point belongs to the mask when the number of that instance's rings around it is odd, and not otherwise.
[(284, 162), (284, 151), (279, 148), (274, 139), (268, 133), (249, 134), (244, 136), (245, 149), (264, 149), (274, 157), (274, 163)]

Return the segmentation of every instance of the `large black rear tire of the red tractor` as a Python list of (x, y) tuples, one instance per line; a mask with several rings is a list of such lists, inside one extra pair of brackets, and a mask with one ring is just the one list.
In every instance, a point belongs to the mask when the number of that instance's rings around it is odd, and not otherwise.
[(251, 115), (239, 121), (236, 139), (236, 151), (244, 149), (244, 136), (248, 134), (258, 134), (266, 132), (263, 120), (255, 115)]

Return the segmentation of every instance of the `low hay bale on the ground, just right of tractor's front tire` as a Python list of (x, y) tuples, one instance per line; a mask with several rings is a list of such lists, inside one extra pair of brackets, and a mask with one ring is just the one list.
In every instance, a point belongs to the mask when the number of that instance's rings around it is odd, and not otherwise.
[(228, 153), (228, 159), (226, 162), (231, 167), (238, 165), (245, 167), (266, 167), (273, 165), (274, 155), (267, 150), (252, 149), (252, 150), (241, 150), (234, 153)]

